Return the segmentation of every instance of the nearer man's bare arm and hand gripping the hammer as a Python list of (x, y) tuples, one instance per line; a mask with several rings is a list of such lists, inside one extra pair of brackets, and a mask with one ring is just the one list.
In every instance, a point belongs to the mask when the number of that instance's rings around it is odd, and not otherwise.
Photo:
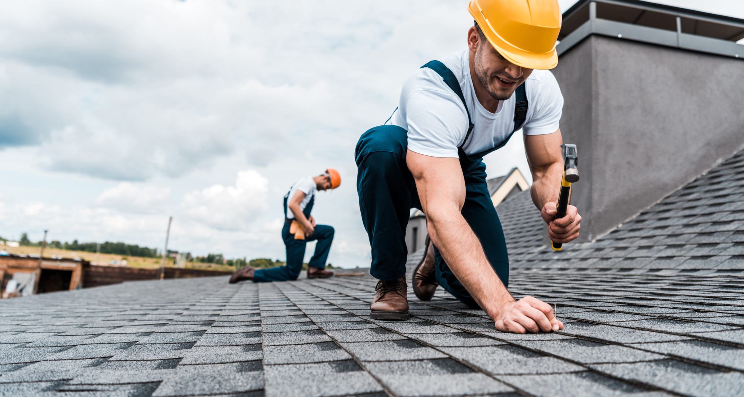
[(553, 134), (525, 135), (525, 153), (532, 172), (532, 201), (548, 223), (548, 235), (556, 243), (568, 243), (579, 237), (581, 215), (575, 206), (568, 206), (565, 217), (558, 220), (556, 202), (563, 178), (563, 156), (560, 129)]

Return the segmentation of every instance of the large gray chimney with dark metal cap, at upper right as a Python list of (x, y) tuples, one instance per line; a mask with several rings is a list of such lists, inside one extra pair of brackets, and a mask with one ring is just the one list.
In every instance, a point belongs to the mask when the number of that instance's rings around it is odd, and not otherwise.
[(645, 1), (578, 1), (563, 14), (553, 73), (563, 141), (578, 145), (579, 241), (744, 148), (742, 38), (742, 19)]

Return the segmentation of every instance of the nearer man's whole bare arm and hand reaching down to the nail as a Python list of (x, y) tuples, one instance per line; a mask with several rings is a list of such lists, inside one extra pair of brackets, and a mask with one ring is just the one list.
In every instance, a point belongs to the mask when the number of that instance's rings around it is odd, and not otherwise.
[(536, 298), (515, 301), (493, 271), (480, 240), (461, 214), (465, 180), (456, 158), (429, 157), (408, 151), (411, 170), (434, 246), (475, 301), (501, 331), (524, 333), (560, 329), (551, 306)]

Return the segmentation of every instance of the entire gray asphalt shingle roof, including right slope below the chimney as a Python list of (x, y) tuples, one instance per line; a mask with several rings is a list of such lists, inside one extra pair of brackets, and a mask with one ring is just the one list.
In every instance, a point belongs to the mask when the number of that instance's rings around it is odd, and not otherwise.
[(559, 253), (528, 193), (502, 203), (510, 291), (557, 304), (560, 332), (498, 332), (442, 289), (373, 321), (369, 275), (139, 281), (0, 301), (0, 394), (742, 396), (742, 171)]

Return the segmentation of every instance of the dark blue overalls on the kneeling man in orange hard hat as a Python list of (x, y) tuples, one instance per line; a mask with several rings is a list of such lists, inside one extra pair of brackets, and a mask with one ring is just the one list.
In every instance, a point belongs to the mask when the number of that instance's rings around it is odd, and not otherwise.
[[(289, 189), (289, 191), (292, 191), (292, 189)], [(295, 240), (295, 234), (289, 233), (289, 226), (292, 224), (292, 220), (286, 217), (288, 210), (286, 206), (287, 200), (289, 200), (289, 192), (284, 196), (284, 227), (281, 229), (281, 237), (284, 240), (284, 246), (286, 246), (286, 266), (272, 267), (271, 269), (256, 269), (256, 272), (253, 274), (254, 283), (297, 280), (300, 272), (302, 272), (305, 246), (308, 241), (313, 240), (318, 240), (318, 243), (315, 244), (315, 253), (310, 258), (310, 263), (307, 266), (325, 269), (325, 263), (330, 252), (330, 244), (333, 243), (333, 226), (316, 225), (315, 232), (310, 234), (310, 236), (306, 235), (304, 240)], [(310, 198), (307, 207), (302, 211), (308, 219), (310, 219), (310, 211), (312, 211), (312, 205), (314, 203), (315, 195)]]

